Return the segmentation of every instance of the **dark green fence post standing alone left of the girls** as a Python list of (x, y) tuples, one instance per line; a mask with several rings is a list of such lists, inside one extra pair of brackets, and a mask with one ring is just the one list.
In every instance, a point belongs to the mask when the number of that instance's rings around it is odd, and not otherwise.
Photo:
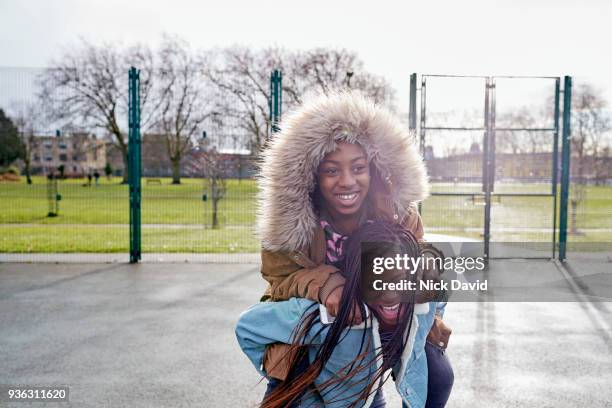
[(130, 184), (130, 263), (141, 259), (140, 71), (129, 71), (128, 181)]

